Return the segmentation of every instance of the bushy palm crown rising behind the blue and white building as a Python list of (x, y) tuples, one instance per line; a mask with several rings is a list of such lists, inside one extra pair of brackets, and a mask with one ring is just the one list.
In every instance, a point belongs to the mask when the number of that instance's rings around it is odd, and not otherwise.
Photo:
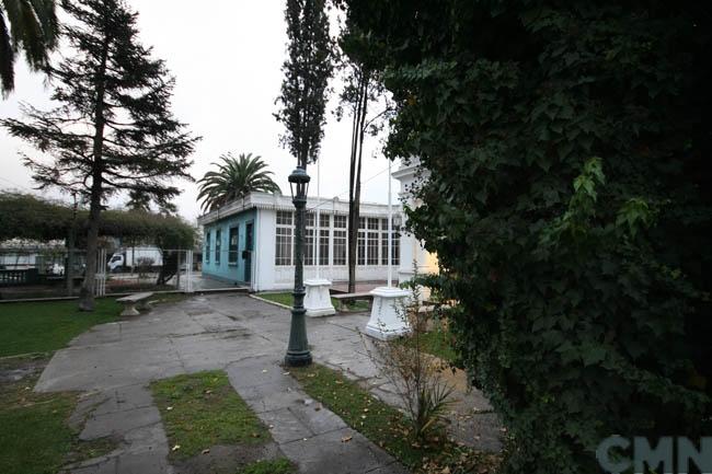
[(269, 176), (273, 173), (265, 170), (267, 163), (261, 157), (240, 153), (234, 158), (228, 152), (220, 155), (220, 159), (221, 163), (213, 163), (218, 166), (218, 171), (208, 171), (198, 180), (198, 200), (203, 199), (203, 211), (216, 209), (253, 190), (282, 193)]

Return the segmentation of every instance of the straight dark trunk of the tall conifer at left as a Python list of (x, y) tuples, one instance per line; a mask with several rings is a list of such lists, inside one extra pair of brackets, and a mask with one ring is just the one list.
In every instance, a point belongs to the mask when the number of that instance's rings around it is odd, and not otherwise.
[[(104, 43), (102, 62), (96, 73), (96, 104), (94, 109), (94, 142), (92, 163), (92, 187), (89, 201), (89, 230), (87, 232), (87, 270), (84, 281), (79, 292), (79, 309), (81, 311), (94, 310), (94, 285), (96, 278), (96, 251), (99, 248), (99, 219), (102, 210), (102, 154), (104, 148), (104, 78), (106, 74), (106, 59), (108, 56), (108, 41)], [(102, 262), (102, 265), (105, 265)]]

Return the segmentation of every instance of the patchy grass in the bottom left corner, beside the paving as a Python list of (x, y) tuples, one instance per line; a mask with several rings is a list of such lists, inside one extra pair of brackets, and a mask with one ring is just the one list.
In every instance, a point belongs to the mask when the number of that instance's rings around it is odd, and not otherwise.
[(0, 383), (0, 473), (50, 474), (71, 462), (115, 448), (110, 439), (80, 441), (67, 420), (77, 406), (74, 393), (35, 393), (47, 359), (21, 357), (0, 361), (0, 372), (26, 370), (21, 380)]

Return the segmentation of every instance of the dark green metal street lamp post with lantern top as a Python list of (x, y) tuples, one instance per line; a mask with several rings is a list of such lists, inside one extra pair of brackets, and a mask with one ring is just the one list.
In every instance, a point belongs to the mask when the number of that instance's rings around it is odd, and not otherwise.
[(289, 367), (309, 366), (311, 352), (307, 339), (305, 321), (305, 208), (307, 207), (307, 190), (309, 175), (303, 167), (296, 167), (289, 175), (291, 201), (297, 209), (295, 219), (295, 302), (291, 308), (291, 326), (289, 328), (289, 346), (285, 363)]

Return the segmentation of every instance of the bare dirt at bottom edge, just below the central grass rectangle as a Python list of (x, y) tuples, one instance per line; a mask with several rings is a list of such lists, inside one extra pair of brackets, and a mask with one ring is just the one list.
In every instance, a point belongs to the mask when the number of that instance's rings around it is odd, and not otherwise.
[(245, 465), (260, 460), (282, 456), (275, 442), (259, 446), (214, 446), (209, 452), (184, 461), (174, 461), (175, 474), (233, 474)]

